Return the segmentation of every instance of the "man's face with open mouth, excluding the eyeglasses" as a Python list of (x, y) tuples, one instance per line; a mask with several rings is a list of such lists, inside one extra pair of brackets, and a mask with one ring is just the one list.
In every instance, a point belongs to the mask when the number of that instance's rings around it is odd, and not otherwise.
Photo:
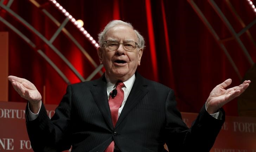
[[(107, 40), (116, 40), (120, 43), (124, 41), (138, 43), (134, 30), (124, 25), (110, 28), (105, 35), (105, 41)], [(137, 46), (133, 51), (126, 51), (122, 44), (116, 50), (109, 50), (105, 44), (102, 48), (98, 48), (100, 62), (106, 69), (106, 76), (113, 83), (126, 81), (135, 73), (137, 66), (140, 65), (142, 52), (143, 49), (139, 49)]]

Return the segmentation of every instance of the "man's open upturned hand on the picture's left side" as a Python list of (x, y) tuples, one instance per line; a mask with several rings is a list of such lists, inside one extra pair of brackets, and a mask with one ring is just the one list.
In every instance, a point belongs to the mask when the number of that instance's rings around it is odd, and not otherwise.
[(8, 80), (12, 82), (12, 86), (18, 94), (30, 102), (30, 110), (33, 113), (38, 113), (42, 96), (35, 85), (24, 78), (15, 76), (8, 76)]

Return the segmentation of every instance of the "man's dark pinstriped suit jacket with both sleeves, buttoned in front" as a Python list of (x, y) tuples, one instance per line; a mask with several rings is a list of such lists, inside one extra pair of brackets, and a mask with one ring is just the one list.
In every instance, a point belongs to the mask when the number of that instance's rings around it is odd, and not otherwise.
[(112, 140), (122, 152), (210, 151), (222, 120), (210, 116), (205, 105), (191, 129), (176, 109), (172, 89), (135, 74), (133, 88), (113, 127), (106, 81), (69, 85), (51, 120), (42, 104), (39, 116), (26, 124), (34, 151), (103, 152)]

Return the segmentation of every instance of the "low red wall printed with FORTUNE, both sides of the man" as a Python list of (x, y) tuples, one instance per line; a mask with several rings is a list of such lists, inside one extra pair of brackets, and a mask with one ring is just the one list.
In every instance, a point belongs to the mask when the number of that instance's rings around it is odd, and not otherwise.
[[(0, 102), (0, 151), (32, 152), (25, 123), (26, 103)], [(57, 105), (46, 104), (49, 117)], [(181, 113), (191, 126), (196, 113)], [(256, 152), (256, 118), (226, 117), (222, 130), (210, 152)]]

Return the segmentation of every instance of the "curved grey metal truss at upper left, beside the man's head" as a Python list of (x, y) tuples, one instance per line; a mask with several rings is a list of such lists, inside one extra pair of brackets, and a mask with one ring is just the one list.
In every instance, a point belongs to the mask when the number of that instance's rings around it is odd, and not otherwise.
[[(36, 6), (37, 8), (40, 8), (40, 5), (34, 1), (34, 0), (29, 0), (32, 4), (34, 4), (34, 6)], [(3, 1), (0, 1), (0, 7), (5, 9), (5, 11), (7, 11), (9, 14), (11, 14), (15, 19), (17, 19), (19, 22), (23, 23), (23, 25), (25, 25), (26, 28), (30, 29), (34, 34), (36, 34), (41, 40), (43, 40), (67, 65), (68, 67), (71, 69), (71, 71), (79, 78), (79, 80), (81, 81), (89, 81), (91, 80), (97, 73), (100, 73), (101, 75), (103, 74), (103, 72), (101, 71), (103, 65), (97, 65), (95, 63), (95, 61), (91, 58), (91, 56), (87, 53), (87, 51), (85, 51), (85, 49), (76, 41), (76, 39), (68, 32), (67, 29), (65, 29), (65, 25), (70, 21), (70, 18), (66, 17), (65, 20), (62, 23), (59, 23), (49, 12), (47, 12), (45, 9), (41, 9), (41, 11), (48, 16), (57, 26), (58, 29), (56, 30), (56, 32), (52, 35), (50, 40), (47, 40), (41, 33), (39, 33), (33, 26), (31, 26), (28, 22), (26, 22), (23, 18), (21, 18), (18, 14), (16, 14), (15, 12), (13, 12), (9, 7), (11, 6), (13, 0), (9, 0), (7, 5), (5, 6), (3, 3)], [(6, 26), (8, 26), (9, 28), (11, 28), (15, 33), (17, 33), (23, 40), (25, 40), (25, 42), (27, 42), (32, 48), (36, 49), (36, 45), (29, 40), (23, 33), (21, 33), (17, 28), (15, 28), (13, 25), (11, 25), (9, 22), (7, 22), (5, 19), (0, 18), (0, 21), (2, 21)], [(73, 22), (73, 20), (72, 20)], [(83, 29), (83, 28), (81, 28)], [(85, 30), (83, 30), (83, 34), (85, 34)], [(53, 46), (53, 41), (56, 39), (56, 37), (59, 35), (60, 32), (64, 32), (69, 39), (78, 47), (79, 50), (82, 51), (82, 53), (85, 55), (85, 57), (91, 62), (91, 64), (95, 67), (95, 70), (88, 76), (87, 79), (84, 79), (81, 74), (79, 74), (79, 72), (73, 67), (73, 65), (67, 60), (67, 58), (60, 53), (60, 51)], [(82, 32), (82, 30), (81, 30)], [(87, 33), (87, 32), (86, 32)], [(85, 37), (87, 37), (87, 39), (89, 40), (89, 37), (91, 38), (90, 34), (85, 35)], [(93, 40), (95, 42), (94, 39), (90, 39)], [(95, 45), (96, 47), (97, 45)], [(43, 53), (43, 51), (41, 51), (40, 49), (37, 50), (38, 53), (53, 67), (53, 69), (56, 70), (56, 72), (60, 75), (60, 77), (63, 78), (63, 80), (67, 83), (70, 84), (70, 81), (68, 80), (68, 78), (63, 74), (62, 71), (60, 71), (60, 69), (50, 60), (50, 58)]]

